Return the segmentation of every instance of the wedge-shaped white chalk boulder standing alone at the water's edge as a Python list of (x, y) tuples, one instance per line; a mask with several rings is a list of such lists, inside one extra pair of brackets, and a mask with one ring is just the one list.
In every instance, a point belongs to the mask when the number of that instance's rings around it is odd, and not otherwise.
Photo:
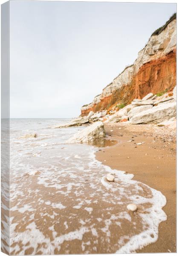
[(103, 122), (95, 122), (92, 125), (79, 131), (72, 138), (67, 140), (68, 143), (92, 143), (105, 137)]

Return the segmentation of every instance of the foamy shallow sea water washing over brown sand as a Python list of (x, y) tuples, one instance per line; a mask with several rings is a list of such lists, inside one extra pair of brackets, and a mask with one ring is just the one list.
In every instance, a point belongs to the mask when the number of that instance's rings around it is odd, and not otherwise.
[(67, 144), (84, 129), (53, 128), (67, 121), (10, 121), (11, 254), (131, 253), (156, 241), (164, 195), (96, 160), (97, 147)]

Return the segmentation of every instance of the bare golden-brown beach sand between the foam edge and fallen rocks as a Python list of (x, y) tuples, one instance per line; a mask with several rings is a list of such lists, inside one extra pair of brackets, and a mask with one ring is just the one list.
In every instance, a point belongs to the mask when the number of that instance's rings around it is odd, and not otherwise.
[[(107, 137), (118, 140), (118, 144), (99, 149), (97, 160), (112, 169), (133, 173), (133, 180), (161, 191), (167, 198), (167, 204), (163, 207), (167, 221), (159, 225), (158, 240), (137, 252), (176, 252), (175, 130), (122, 123), (105, 125), (105, 129)], [(136, 145), (142, 142), (142, 145)]]

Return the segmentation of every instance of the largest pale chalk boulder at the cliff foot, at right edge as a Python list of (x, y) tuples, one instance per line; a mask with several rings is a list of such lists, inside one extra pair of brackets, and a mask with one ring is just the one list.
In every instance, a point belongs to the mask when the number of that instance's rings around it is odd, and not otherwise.
[(142, 111), (130, 119), (131, 124), (159, 123), (176, 116), (176, 102), (165, 103)]

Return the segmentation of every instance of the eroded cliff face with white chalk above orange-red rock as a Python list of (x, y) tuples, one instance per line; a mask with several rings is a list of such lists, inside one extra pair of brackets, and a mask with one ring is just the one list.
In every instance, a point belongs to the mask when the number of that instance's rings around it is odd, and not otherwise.
[(118, 103), (129, 104), (147, 93), (173, 90), (176, 85), (176, 19), (159, 34), (150, 37), (133, 65), (124, 69), (92, 103), (81, 108), (90, 111), (110, 110)]

